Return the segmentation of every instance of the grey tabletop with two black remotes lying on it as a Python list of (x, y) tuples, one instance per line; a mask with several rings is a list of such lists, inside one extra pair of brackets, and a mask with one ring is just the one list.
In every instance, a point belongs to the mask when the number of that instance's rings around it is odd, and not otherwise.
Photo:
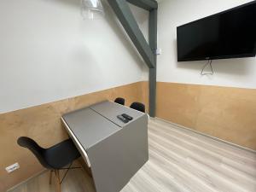
[(127, 113), (135, 119), (145, 115), (114, 102), (100, 102), (88, 108), (64, 114), (62, 118), (85, 150), (113, 135), (125, 125), (117, 115)]

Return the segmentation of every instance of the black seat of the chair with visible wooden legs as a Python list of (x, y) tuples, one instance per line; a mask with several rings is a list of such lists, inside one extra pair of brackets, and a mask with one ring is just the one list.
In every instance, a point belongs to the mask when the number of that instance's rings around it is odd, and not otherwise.
[(53, 169), (61, 169), (80, 157), (78, 149), (71, 139), (47, 148), (44, 151), (44, 157), (49, 166)]

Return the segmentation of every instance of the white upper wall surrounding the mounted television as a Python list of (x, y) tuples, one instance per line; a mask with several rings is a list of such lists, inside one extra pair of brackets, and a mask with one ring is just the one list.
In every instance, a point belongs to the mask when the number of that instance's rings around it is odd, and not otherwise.
[[(159, 6), (159, 47), (157, 80), (183, 84), (211, 84), (256, 88), (256, 59), (212, 61), (213, 76), (201, 77), (205, 61), (177, 62), (176, 27), (249, 0), (164, 0)], [(144, 77), (146, 79), (147, 77)]]

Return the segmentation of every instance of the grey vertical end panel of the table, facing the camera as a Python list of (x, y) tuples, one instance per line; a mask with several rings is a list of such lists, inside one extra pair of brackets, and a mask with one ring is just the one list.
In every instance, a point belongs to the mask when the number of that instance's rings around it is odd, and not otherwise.
[(119, 192), (148, 161), (148, 117), (126, 125), (87, 151), (97, 192)]

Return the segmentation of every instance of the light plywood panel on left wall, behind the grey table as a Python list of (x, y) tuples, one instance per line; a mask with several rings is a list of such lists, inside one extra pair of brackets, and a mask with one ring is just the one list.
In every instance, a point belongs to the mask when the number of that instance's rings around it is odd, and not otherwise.
[[(106, 99), (113, 101), (118, 96), (125, 98), (126, 105), (135, 101), (143, 102), (141, 86), (141, 82), (138, 82), (0, 114), (0, 191), (5, 191), (43, 170), (32, 153), (17, 145), (18, 137), (32, 137), (39, 145), (48, 148), (67, 138), (61, 125), (61, 114)], [(15, 162), (19, 162), (20, 169), (8, 174), (5, 167)]]

